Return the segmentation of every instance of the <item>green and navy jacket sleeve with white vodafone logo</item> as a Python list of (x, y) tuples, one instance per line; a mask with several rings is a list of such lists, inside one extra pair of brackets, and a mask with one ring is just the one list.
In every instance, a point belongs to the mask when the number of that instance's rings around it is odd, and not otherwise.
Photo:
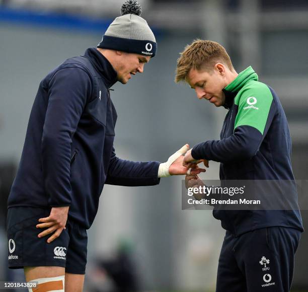
[(221, 140), (195, 145), (194, 159), (216, 162), (244, 161), (256, 155), (275, 116), (276, 106), (270, 89), (258, 83), (244, 90), (238, 101), (234, 133)]

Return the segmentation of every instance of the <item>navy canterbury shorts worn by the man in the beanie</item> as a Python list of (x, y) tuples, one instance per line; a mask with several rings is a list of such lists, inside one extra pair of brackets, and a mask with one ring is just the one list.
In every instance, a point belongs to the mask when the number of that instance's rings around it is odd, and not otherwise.
[(36, 228), (39, 218), (48, 217), (50, 209), (11, 207), (8, 209), (9, 268), (25, 266), (65, 267), (66, 273), (85, 274), (87, 264), (87, 230), (72, 220), (51, 243), (48, 234), (38, 238), (44, 229)]

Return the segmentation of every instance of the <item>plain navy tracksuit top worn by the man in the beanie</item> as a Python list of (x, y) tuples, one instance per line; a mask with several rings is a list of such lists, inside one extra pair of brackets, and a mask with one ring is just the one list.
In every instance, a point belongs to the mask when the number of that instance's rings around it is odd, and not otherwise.
[(96, 49), (67, 59), (40, 83), (8, 207), (70, 206), (68, 216), (90, 228), (104, 184), (159, 183), (159, 162), (119, 159), (110, 87), (117, 72)]

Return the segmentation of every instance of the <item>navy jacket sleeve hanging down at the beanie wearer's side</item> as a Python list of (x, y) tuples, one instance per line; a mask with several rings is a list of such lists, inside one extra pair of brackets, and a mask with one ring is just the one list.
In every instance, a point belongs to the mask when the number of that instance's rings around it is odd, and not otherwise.
[(81, 68), (58, 70), (49, 82), (48, 105), (43, 127), (41, 154), (48, 203), (71, 203), (70, 160), (72, 136), (91, 96), (91, 80)]

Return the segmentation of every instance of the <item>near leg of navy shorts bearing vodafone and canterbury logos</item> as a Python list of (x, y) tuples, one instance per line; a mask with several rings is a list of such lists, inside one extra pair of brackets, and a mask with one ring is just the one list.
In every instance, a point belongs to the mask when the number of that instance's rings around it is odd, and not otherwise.
[(69, 242), (67, 230), (51, 243), (48, 237), (38, 238), (38, 220), (49, 209), (14, 207), (8, 210), (8, 261), (10, 268), (57, 266), (65, 267)]

